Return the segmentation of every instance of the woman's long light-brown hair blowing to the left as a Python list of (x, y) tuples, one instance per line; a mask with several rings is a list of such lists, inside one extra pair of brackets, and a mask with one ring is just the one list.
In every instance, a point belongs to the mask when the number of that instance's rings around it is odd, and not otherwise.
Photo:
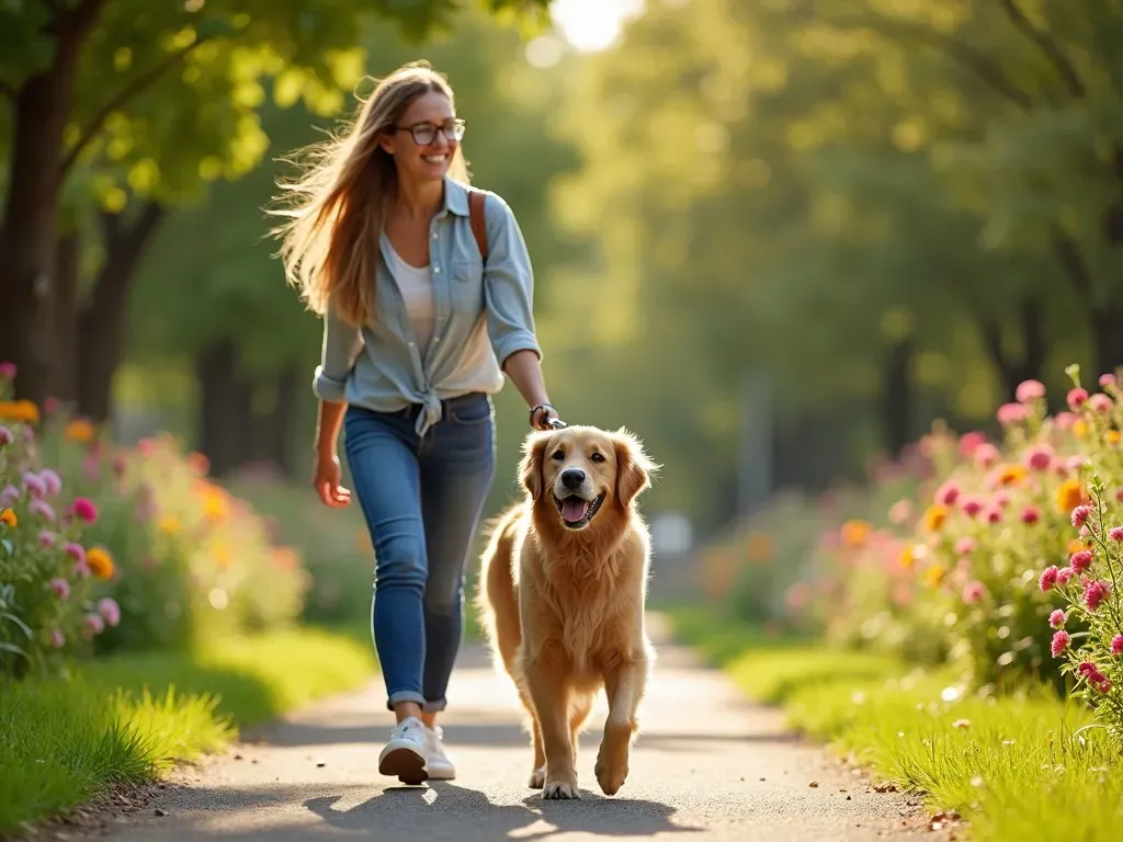
[[(268, 211), (290, 218), (272, 232), (282, 240), (285, 278), (313, 312), (322, 315), (334, 305), (339, 318), (354, 326), (372, 317), (378, 237), (398, 193), (394, 159), (378, 140), (418, 97), (430, 91), (454, 101), (448, 82), (427, 62), (399, 67), (366, 101), (356, 95), (362, 108), (353, 125), (301, 150), (310, 158), (303, 177), (277, 182), (295, 201)], [(459, 146), (449, 175), (468, 183)]]

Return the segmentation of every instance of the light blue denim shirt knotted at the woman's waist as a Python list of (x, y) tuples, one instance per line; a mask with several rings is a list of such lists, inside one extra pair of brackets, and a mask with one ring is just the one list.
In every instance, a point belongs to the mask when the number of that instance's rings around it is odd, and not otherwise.
[[(423, 356), (390, 272), (384, 236), (380, 238), (376, 313), (359, 328), (340, 321), (329, 305), (312, 384), (318, 397), (380, 412), (421, 404), (424, 411), (418, 413), (416, 429), (424, 436), (441, 419), (442, 400), (465, 391), (499, 392), (502, 364), (518, 350), (541, 357), (535, 336), (533, 272), (522, 231), (510, 205), (495, 193), (485, 194), (484, 218), (486, 267), (472, 234), (467, 189), (446, 176), (445, 202), (429, 227), (436, 324)], [(465, 350), (484, 329), (495, 365), (466, 386), (455, 375)]]

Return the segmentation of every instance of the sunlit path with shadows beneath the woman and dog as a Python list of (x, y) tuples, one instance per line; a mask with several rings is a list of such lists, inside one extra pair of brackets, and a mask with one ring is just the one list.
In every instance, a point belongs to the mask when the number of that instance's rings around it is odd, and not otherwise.
[[(377, 775), (390, 720), (375, 683), (247, 734), (249, 742), (181, 775), (109, 839), (946, 838), (928, 830), (916, 799), (873, 791), (864, 777), (785, 733), (780, 714), (748, 704), (721, 672), (669, 642), (658, 620), (645, 733), (612, 798), (593, 777), (595, 729), (582, 740), (581, 800), (542, 802), (526, 787), (530, 753), (513, 690), (474, 646), (454, 676), (444, 723), (457, 780), (403, 787)], [(603, 716), (602, 705), (592, 722)]]

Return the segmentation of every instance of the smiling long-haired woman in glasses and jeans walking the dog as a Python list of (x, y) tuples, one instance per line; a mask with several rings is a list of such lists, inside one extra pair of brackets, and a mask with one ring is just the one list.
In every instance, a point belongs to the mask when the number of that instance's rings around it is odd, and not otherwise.
[(533, 278), (510, 207), (481, 194), (474, 236), (464, 121), (428, 64), (383, 80), (321, 147), (277, 229), (286, 276), (323, 315), (313, 486), (346, 506), (337, 438), (375, 551), (372, 628), (396, 726), (378, 760), (407, 784), (450, 779), (437, 726), (460, 643), (464, 566), (494, 475), (491, 395), (514, 381), (530, 424), (557, 421)]

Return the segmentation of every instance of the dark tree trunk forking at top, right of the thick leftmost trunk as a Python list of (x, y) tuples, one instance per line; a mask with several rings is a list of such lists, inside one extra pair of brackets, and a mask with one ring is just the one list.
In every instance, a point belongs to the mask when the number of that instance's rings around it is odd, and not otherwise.
[(90, 303), (79, 319), (79, 412), (93, 421), (112, 414), (113, 375), (125, 353), (129, 290), (145, 248), (165, 218), (156, 202), (145, 202), (136, 218), (101, 214), (106, 260), (98, 273)]

